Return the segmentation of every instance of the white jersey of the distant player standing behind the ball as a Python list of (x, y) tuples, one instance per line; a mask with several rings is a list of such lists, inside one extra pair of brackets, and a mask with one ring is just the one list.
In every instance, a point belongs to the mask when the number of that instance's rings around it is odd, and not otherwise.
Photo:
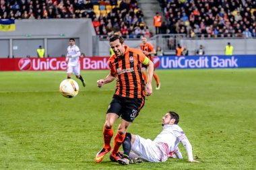
[[(79, 56), (81, 55), (81, 52), (75, 44), (73, 46), (67, 47), (67, 58), (66, 60), (69, 60), (69, 63), (67, 64), (68, 67), (70, 66), (77, 66), (80, 65), (79, 62)], [(72, 56), (69, 58), (69, 56)]]

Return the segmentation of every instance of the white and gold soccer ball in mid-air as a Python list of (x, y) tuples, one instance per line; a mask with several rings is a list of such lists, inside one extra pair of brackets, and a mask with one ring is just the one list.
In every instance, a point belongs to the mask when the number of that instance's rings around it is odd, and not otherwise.
[(64, 97), (72, 98), (78, 94), (79, 86), (73, 79), (65, 79), (59, 85), (59, 91)]

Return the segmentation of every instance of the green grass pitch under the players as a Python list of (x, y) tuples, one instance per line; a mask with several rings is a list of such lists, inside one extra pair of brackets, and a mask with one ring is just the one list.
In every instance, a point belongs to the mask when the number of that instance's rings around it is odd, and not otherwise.
[[(181, 144), (183, 160), (129, 169), (255, 169), (256, 69), (156, 72), (161, 89), (146, 97), (128, 131), (154, 139), (162, 130), (162, 116), (174, 110), (194, 157), (203, 163), (188, 163)], [(82, 71), (86, 88), (73, 76), (80, 91), (67, 99), (59, 93), (65, 72), (1, 72), (0, 169), (127, 169), (110, 162), (109, 153), (94, 163), (115, 91), (115, 82), (96, 87), (96, 80), (107, 74)]]

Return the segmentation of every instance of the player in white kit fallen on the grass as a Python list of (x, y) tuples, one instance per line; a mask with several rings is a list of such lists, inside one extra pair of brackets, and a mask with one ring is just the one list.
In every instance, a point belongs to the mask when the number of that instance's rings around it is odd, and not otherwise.
[(189, 162), (200, 163), (193, 159), (192, 146), (179, 125), (179, 115), (175, 112), (168, 112), (162, 117), (163, 130), (152, 141), (141, 138), (139, 135), (126, 133), (123, 141), (123, 157), (118, 160), (121, 165), (135, 163), (136, 160), (129, 157), (132, 150), (143, 161), (164, 162), (168, 157), (183, 159), (178, 145), (182, 142), (187, 150)]

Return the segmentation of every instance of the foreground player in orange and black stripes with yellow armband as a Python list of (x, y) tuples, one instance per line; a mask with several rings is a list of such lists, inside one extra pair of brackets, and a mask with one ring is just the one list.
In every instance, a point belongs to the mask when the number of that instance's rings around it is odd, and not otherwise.
[[(129, 48), (121, 36), (114, 35), (109, 39), (110, 47), (115, 54), (110, 56), (108, 65), (110, 73), (104, 79), (97, 81), (98, 87), (117, 79), (117, 89), (106, 112), (106, 122), (103, 128), (104, 146), (94, 159), (100, 163), (106, 153), (111, 150), (110, 141), (113, 137), (113, 125), (121, 116), (121, 123), (115, 135), (113, 151), (110, 160), (121, 158), (119, 147), (125, 139), (126, 130), (143, 108), (145, 95), (152, 95), (153, 62), (139, 49)], [(148, 82), (144, 85), (141, 73), (141, 63), (148, 65)]]

